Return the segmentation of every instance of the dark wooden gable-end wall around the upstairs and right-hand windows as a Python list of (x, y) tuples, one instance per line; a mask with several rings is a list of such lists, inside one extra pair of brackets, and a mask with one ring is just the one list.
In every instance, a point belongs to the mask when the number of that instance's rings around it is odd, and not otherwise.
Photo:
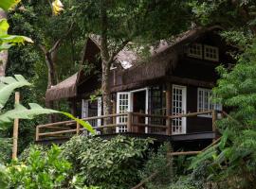
[[(216, 67), (220, 64), (228, 67), (229, 64), (234, 64), (234, 60), (231, 59), (228, 52), (233, 50), (220, 38), (216, 33), (207, 33), (198, 38), (193, 43), (202, 43), (216, 46), (219, 48), (219, 61), (196, 59), (187, 56), (187, 46), (184, 47), (184, 51), (178, 56), (178, 62), (174, 70), (170, 71), (170, 76), (195, 79), (198, 81), (198, 85), (184, 85), (181, 82), (169, 80), (169, 82), (187, 87), (187, 112), (197, 112), (197, 90), (200, 81), (216, 83), (219, 78), (216, 72)], [(204, 47), (203, 47), (204, 49)], [(206, 88), (206, 87), (204, 87)], [(212, 130), (211, 117), (196, 116), (187, 118), (187, 133), (202, 132)]]

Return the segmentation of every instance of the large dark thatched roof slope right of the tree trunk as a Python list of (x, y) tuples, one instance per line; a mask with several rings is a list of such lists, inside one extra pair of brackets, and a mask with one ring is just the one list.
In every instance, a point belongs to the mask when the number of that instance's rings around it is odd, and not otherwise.
[(158, 46), (148, 60), (137, 62), (129, 69), (119, 71), (116, 76), (121, 77), (121, 81), (112, 86), (112, 92), (143, 87), (152, 83), (153, 80), (157, 81), (166, 77), (167, 73), (172, 75), (178, 62), (178, 54), (185, 50), (186, 44), (194, 42), (202, 34), (215, 29), (221, 28), (220, 26), (193, 28), (178, 35), (173, 43), (164, 43)]

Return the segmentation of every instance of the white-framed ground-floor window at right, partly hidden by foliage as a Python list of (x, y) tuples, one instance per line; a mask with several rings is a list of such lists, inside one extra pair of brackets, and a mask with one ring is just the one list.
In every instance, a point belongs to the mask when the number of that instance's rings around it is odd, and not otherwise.
[[(210, 89), (197, 89), (197, 112), (205, 112), (210, 110), (222, 111), (222, 105), (212, 103), (212, 92)], [(199, 116), (211, 117), (211, 113)]]

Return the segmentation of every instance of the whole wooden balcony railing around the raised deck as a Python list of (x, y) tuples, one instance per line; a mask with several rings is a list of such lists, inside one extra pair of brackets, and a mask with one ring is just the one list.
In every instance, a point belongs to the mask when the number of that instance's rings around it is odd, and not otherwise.
[[(82, 120), (87, 122), (95, 121), (97, 123), (106, 123), (101, 126), (94, 127), (98, 134), (134, 132), (172, 135), (172, 120), (182, 117), (194, 117), (202, 114), (212, 115), (212, 131), (215, 131), (215, 121), (217, 119), (216, 111), (190, 112), (171, 116), (124, 112), (87, 117), (82, 118)], [(101, 121), (98, 122), (99, 120)], [(36, 127), (36, 141), (71, 137), (75, 134), (87, 135), (89, 133), (75, 121), (56, 122)]]

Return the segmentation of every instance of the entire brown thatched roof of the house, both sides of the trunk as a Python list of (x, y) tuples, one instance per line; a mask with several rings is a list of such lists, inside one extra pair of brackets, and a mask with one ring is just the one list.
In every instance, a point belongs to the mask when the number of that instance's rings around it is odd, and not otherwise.
[[(116, 60), (127, 69), (112, 70), (110, 78), (111, 92), (131, 90), (146, 86), (149, 83), (162, 82), (168, 74), (172, 75), (178, 62), (179, 53), (184, 51), (187, 44), (194, 42), (202, 34), (216, 29), (221, 29), (221, 27), (192, 28), (174, 38), (173, 43), (161, 43), (161, 45), (151, 52), (150, 58), (144, 61), (140, 61), (135, 52), (131, 52), (129, 49), (123, 49), (119, 52)], [(96, 48), (101, 48), (99, 39), (90, 38), (90, 40), (89, 43), (93, 42)], [(89, 46), (87, 57), (93, 56), (93, 53), (90, 51), (93, 45), (90, 44)], [(82, 76), (81, 72), (79, 75)], [(80, 82), (91, 86), (91, 81), (87, 80), (86, 77), (78, 79), (78, 74), (75, 74), (47, 90), (46, 101), (76, 97)]]

